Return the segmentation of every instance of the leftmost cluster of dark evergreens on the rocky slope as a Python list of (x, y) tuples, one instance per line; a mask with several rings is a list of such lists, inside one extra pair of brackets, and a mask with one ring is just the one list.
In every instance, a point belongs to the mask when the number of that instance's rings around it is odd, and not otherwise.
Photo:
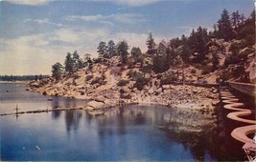
[(90, 65), (90, 57), (86, 57), (84, 61), (80, 58), (78, 51), (74, 51), (73, 54), (70, 52), (67, 53), (64, 66), (59, 62), (52, 66), (52, 76), (58, 81), (61, 79), (63, 74), (68, 76), (72, 75), (75, 71), (84, 68), (87, 64)]

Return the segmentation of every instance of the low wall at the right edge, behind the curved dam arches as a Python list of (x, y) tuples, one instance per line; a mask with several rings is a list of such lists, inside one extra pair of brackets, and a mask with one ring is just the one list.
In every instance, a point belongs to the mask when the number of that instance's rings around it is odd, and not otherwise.
[(249, 83), (228, 82), (229, 86), (249, 96), (255, 96), (255, 85)]

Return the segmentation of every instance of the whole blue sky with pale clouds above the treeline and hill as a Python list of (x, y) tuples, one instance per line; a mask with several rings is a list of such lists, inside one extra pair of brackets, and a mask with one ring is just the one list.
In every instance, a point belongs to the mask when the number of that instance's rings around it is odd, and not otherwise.
[(100, 41), (155, 42), (212, 29), (221, 11), (248, 17), (253, 0), (0, 0), (0, 74), (50, 74), (66, 53), (97, 55)]

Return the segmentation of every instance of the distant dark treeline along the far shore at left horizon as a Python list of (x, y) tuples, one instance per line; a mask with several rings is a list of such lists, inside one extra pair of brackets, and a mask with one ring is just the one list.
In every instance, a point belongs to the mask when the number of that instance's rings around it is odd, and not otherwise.
[(28, 80), (41, 80), (46, 77), (49, 77), (48, 75), (0, 75), (1, 81), (28, 81)]

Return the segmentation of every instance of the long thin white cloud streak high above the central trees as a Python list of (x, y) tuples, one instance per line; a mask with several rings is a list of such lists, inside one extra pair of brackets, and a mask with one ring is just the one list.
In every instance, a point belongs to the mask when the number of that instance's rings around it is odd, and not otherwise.
[(117, 13), (110, 15), (70, 15), (64, 18), (67, 21), (87, 21), (87, 22), (98, 22), (113, 25), (114, 22), (124, 23), (124, 24), (134, 24), (137, 22), (145, 22), (146, 19), (141, 14), (136, 13)]

